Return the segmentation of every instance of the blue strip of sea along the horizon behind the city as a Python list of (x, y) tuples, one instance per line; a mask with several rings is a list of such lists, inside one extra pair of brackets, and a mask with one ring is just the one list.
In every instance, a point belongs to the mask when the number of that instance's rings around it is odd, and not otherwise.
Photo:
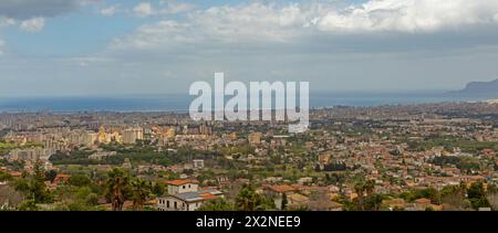
[[(122, 96), (0, 97), (0, 113), (187, 112), (197, 96), (185, 94)], [(498, 95), (459, 95), (447, 92), (311, 93), (310, 107), (385, 106), (444, 102), (480, 102)]]

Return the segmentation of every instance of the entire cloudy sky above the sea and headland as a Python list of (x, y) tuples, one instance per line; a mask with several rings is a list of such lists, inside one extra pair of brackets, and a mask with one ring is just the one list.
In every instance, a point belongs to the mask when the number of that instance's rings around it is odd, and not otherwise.
[(215, 72), (449, 91), (497, 64), (497, 0), (0, 1), (0, 96), (187, 94)]

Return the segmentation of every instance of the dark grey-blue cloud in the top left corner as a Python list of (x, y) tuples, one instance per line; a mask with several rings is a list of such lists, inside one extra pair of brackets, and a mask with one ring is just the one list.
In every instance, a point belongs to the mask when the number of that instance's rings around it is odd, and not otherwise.
[(1, 0), (0, 15), (27, 20), (33, 17), (56, 17), (76, 10), (87, 0)]

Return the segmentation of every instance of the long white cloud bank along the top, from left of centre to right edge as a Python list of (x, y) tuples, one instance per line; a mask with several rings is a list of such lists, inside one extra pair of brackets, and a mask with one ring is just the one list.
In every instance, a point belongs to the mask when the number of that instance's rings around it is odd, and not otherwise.
[[(164, 1), (162, 4), (177, 3)], [(178, 7), (181, 8), (187, 9)], [(160, 13), (149, 3), (138, 4), (134, 11), (142, 17)], [(434, 33), (488, 24), (498, 24), (496, 0), (371, 0), (347, 7), (340, 7), (338, 1), (252, 2), (191, 11), (186, 20), (143, 25), (116, 41), (121, 45), (129, 43), (125, 47), (170, 46), (172, 42), (187, 39), (191, 43), (294, 42), (308, 35)]]

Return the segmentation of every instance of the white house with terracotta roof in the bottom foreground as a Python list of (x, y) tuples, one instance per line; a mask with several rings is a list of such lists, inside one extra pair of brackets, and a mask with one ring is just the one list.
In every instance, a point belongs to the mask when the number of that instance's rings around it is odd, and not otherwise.
[(205, 201), (224, 198), (224, 193), (218, 190), (199, 190), (195, 180), (174, 180), (166, 184), (169, 194), (157, 199), (159, 211), (195, 211)]

